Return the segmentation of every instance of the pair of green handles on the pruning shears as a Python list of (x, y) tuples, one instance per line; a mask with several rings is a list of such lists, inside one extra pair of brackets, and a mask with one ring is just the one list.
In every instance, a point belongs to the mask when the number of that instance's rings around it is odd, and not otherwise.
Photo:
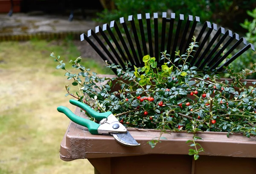
[[(95, 110), (93, 110), (92, 108), (90, 108), (88, 105), (86, 105), (84, 103), (81, 103), (79, 101), (73, 100), (73, 99), (70, 100), (70, 103), (77, 106), (77, 107), (80, 107), (80, 108), (86, 110), (86, 112), (88, 114), (90, 114), (90, 116), (94, 117), (98, 121), (100, 121), (104, 118), (107, 119), (108, 116), (111, 114), (110, 111), (105, 112), (105, 113), (98, 113)], [(64, 106), (59, 106), (57, 108), (57, 110), (61, 113), (64, 113), (71, 121), (75, 122), (76, 124), (88, 128), (89, 132), (91, 134), (99, 134), (98, 133), (98, 128), (99, 128), (100, 125), (97, 124), (96, 122), (93, 122), (93, 121), (90, 121), (88, 119), (84, 119), (84, 118), (81, 118), (79, 116), (76, 116), (76, 114), (74, 114), (70, 109), (68, 109), (67, 107), (64, 107)]]

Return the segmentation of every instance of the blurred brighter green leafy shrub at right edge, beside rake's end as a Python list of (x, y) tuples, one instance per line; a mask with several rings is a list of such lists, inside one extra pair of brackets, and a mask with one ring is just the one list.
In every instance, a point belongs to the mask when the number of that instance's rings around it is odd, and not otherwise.
[[(247, 14), (251, 17), (253, 17), (252, 21), (249, 21), (246, 19), (244, 23), (241, 23), (241, 26), (244, 29), (247, 29), (246, 33), (246, 40), (254, 45), (256, 47), (256, 9), (253, 11), (247, 11)], [(237, 58), (235, 61), (232, 62), (232, 67), (235, 72), (239, 72), (242, 69), (251, 69), (253, 67), (253, 64), (256, 63), (256, 52), (251, 51), (250, 49), (244, 54), (242, 54), (239, 58)], [(250, 79), (256, 79), (256, 73), (248, 76)]]

